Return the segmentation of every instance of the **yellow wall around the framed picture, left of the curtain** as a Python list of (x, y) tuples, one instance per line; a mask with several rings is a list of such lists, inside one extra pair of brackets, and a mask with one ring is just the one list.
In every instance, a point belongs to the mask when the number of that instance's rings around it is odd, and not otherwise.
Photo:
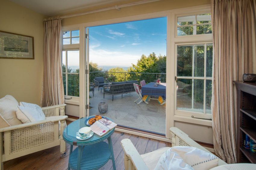
[(40, 104), (43, 75), (44, 16), (1, 0), (0, 30), (34, 37), (34, 60), (0, 58), (0, 98)]

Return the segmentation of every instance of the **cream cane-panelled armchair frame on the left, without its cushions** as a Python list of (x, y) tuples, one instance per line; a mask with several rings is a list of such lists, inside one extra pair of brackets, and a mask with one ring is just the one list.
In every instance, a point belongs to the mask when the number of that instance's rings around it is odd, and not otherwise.
[(65, 157), (66, 143), (62, 138), (67, 118), (65, 106), (43, 107), (45, 120), (0, 128), (0, 169), (3, 169), (4, 161), (58, 145), (61, 157)]

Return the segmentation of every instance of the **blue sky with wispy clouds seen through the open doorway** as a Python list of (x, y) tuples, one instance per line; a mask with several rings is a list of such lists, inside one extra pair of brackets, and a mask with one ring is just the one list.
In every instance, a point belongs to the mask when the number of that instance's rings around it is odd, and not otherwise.
[(166, 17), (90, 27), (89, 60), (131, 66), (142, 54), (166, 55), (166, 29)]

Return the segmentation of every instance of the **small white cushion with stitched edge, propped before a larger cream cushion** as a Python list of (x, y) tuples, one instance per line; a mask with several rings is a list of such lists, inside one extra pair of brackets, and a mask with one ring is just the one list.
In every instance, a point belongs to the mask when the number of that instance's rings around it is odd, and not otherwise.
[(45, 120), (45, 115), (40, 106), (32, 103), (20, 102), (16, 115), (22, 123)]

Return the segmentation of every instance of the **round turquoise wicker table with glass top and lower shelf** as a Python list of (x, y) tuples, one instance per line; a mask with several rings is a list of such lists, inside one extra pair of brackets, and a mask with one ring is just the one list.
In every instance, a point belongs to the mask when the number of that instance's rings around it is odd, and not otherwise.
[[(92, 117), (92, 116), (90, 116)], [(113, 169), (116, 169), (115, 159), (111, 141), (111, 135), (114, 133), (114, 129), (111, 129), (103, 136), (94, 134), (91, 138), (86, 140), (77, 140), (76, 132), (82, 127), (86, 127), (85, 120), (89, 118), (81, 118), (73, 121), (64, 129), (63, 139), (70, 144), (70, 154), (68, 162), (68, 170), (91, 170), (99, 169), (104, 166), (109, 159), (112, 160)], [(108, 118), (113, 121), (112, 119)], [(108, 143), (104, 142), (108, 139)], [(73, 146), (78, 146), (73, 151)]]

